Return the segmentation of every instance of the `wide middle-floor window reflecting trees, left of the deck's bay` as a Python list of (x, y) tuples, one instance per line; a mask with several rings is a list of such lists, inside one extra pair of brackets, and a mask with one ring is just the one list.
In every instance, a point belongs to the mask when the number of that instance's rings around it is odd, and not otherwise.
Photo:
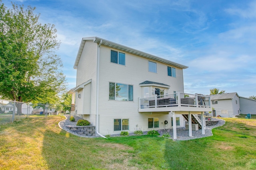
[(109, 99), (118, 101), (133, 101), (133, 85), (110, 82)]

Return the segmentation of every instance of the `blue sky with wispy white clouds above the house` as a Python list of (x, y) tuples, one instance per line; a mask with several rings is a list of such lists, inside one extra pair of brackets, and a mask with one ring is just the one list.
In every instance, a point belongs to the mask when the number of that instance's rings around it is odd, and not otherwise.
[[(2, 2), (10, 7), (9, 0)], [(83, 37), (97, 36), (186, 65), (185, 93), (256, 96), (256, 0), (13, 0), (58, 30), (69, 87)]]

